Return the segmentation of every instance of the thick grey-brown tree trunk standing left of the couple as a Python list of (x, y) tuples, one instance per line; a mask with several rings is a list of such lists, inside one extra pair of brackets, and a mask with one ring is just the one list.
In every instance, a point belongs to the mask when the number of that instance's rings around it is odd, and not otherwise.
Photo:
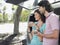
[(21, 15), (22, 7), (18, 6), (17, 11), (15, 13), (14, 20), (14, 34), (19, 34), (19, 20)]

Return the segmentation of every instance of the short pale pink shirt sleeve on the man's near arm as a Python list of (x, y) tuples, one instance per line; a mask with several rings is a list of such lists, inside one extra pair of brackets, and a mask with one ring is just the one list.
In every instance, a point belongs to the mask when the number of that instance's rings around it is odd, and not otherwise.
[(50, 19), (50, 25), (52, 30), (59, 30), (59, 18), (52, 16), (52, 18)]

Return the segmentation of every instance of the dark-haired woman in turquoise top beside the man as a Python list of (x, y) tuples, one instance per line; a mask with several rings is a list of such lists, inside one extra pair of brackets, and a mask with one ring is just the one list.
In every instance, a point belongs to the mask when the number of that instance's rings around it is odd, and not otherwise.
[(30, 22), (29, 26), (32, 26), (32, 39), (30, 45), (42, 45), (43, 37), (37, 35), (38, 32), (44, 33), (45, 30), (45, 16), (42, 15), (39, 10), (34, 12), (34, 17), (37, 22)]

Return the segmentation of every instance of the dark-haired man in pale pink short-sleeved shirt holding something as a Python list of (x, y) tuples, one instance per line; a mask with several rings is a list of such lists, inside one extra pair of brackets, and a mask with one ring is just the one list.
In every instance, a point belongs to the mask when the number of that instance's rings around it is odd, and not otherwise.
[(51, 5), (48, 1), (40, 1), (39, 11), (46, 17), (46, 30), (44, 34), (37, 33), (43, 36), (43, 45), (58, 45), (59, 34), (59, 17), (52, 12)]

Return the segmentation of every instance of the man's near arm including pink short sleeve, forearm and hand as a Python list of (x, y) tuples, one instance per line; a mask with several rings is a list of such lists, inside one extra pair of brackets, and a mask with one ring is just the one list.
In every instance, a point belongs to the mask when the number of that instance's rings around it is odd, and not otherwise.
[(52, 16), (50, 19), (50, 25), (52, 28), (52, 33), (51, 34), (41, 34), (41, 36), (45, 38), (50, 38), (50, 39), (57, 39), (59, 35), (59, 19), (57, 17)]

